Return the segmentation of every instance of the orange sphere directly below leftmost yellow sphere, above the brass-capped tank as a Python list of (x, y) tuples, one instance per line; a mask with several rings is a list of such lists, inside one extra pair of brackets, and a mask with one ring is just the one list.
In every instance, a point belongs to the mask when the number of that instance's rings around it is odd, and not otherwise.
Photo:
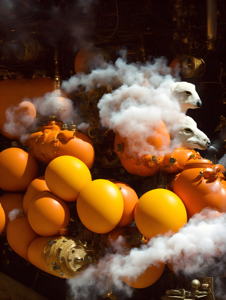
[(65, 202), (50, 192), (36, 196), (28, 208), (30, 226), (42, 236), (59, 235), (59, 230), (68, 226), (69, 218)]

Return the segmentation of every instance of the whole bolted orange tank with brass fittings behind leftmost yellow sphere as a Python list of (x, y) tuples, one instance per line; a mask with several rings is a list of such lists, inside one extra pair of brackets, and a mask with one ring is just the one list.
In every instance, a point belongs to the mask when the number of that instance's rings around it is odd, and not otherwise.
[(74, 156), (90, 169), (95, 151), (90, 138), (81, 132), (62, 131), (62, 123), (49, 121), (39, 132), (30, 135), (27, 143), (31, 154), (46, 164), (62, 155)]

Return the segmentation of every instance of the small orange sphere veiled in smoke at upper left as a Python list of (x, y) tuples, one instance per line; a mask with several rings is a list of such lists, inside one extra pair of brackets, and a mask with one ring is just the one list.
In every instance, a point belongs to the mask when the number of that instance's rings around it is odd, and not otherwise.
[(23, 101), (16, 106), (8, 107), (6, 122), (2, 134), (9, 139), (19, 139), (20, 135), (34, 122), (36, 109), (29, 101)]

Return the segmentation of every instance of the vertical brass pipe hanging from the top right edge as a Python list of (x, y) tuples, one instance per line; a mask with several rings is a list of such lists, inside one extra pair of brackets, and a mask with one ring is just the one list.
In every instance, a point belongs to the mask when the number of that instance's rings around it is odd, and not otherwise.
[(217, 0), (206, 1), (207, 11), (207, 49), (216, 49), (216, 37), (217, 37)]

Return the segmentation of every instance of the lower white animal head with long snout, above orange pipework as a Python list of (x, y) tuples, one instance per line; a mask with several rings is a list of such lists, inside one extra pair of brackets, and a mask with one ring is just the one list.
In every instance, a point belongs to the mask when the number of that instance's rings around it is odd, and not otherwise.
[(182, 147), (191, 150), (210, 148), (210, 140), (197, 128), (196, 122), (189, 116), (184, 117), (184, 122), (181, 129), (177, 132), (175, 140), (179, 142)]

